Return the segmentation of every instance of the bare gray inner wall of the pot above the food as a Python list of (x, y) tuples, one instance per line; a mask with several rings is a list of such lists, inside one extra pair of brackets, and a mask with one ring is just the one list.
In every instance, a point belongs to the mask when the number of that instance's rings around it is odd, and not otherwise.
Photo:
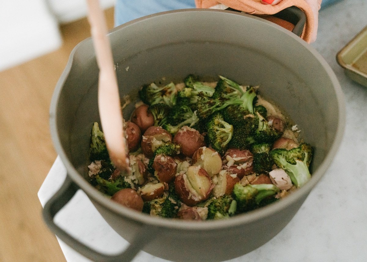
[[(109, 34), (120, 96), (137, 98), (142, 84), (182, 81), (190, 73), (240, 84), (284, 109), (315, 147), (311, 172), (330, 151), (339, 128), (338, 95), (331, 69), (303, 40), (268, 21), (237, 12), (180, 10), (129, 22)], [(92, 123), (99, 121), (98, 68), (91, 39), (73, 51), (51, 106), (56, 148), (87, 174)], [(131, 103), (124, 111), (126, 119)], [(55, 121), (55, 122), (52, 122)]]

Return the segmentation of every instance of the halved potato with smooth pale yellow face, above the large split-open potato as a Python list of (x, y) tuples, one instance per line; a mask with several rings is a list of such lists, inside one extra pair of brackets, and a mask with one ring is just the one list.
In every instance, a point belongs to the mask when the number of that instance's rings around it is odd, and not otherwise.
[(200, 165), (212, 177), (222, 170), (222, 158), (214, 149), (203, 146), (193, 154), (192, 165)]

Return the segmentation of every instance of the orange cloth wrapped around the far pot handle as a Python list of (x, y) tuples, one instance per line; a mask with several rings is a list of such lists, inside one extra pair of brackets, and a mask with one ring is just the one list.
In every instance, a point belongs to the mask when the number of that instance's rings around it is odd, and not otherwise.
[[(317, 1), (317, 10), (315, 17), (315, 7), (311, 7), (305, 0), (282, 0), (280, 3), (272, 6), (262, 4), (256, 0), (195, 0), (197, 8), (215, 8), (217, 5), (224, 5), (247, 14), (256, 15), (266, 20), (274, 22), (288, 30), (292, 30), (294, 25), (288, 21), (272, 16), (288, 7), (295, 6), (302, 10), (306, 16), (306, 22), (301, 34), (301, 38), (310, 43), (316, 39), (317, 31), (317, 12), (320, 9), (321, 0)], [(222, 8), (218, 8), (222, 9)]]

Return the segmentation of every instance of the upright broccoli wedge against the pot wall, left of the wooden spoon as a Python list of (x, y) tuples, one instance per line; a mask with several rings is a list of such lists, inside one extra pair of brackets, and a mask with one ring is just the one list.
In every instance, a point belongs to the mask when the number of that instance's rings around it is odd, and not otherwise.
[(94, 122), (92, 126), (89, 156), (91, 161), (109, 159), (105, 135), (101, 130), (99, 130), (97, 122)]

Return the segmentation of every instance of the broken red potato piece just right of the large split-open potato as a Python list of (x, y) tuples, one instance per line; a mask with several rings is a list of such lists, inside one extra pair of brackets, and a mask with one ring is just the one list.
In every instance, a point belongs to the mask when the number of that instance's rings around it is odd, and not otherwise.
[(224, 194), (232, 194), (235, 184), (241, 182), (236, 174), (230, 174), (226, 170), (219, 172), (219, 174), (212, 180), (216, 181), (216, 184), (212, 190), (212, 193), (215, 197), (220, 197)]

